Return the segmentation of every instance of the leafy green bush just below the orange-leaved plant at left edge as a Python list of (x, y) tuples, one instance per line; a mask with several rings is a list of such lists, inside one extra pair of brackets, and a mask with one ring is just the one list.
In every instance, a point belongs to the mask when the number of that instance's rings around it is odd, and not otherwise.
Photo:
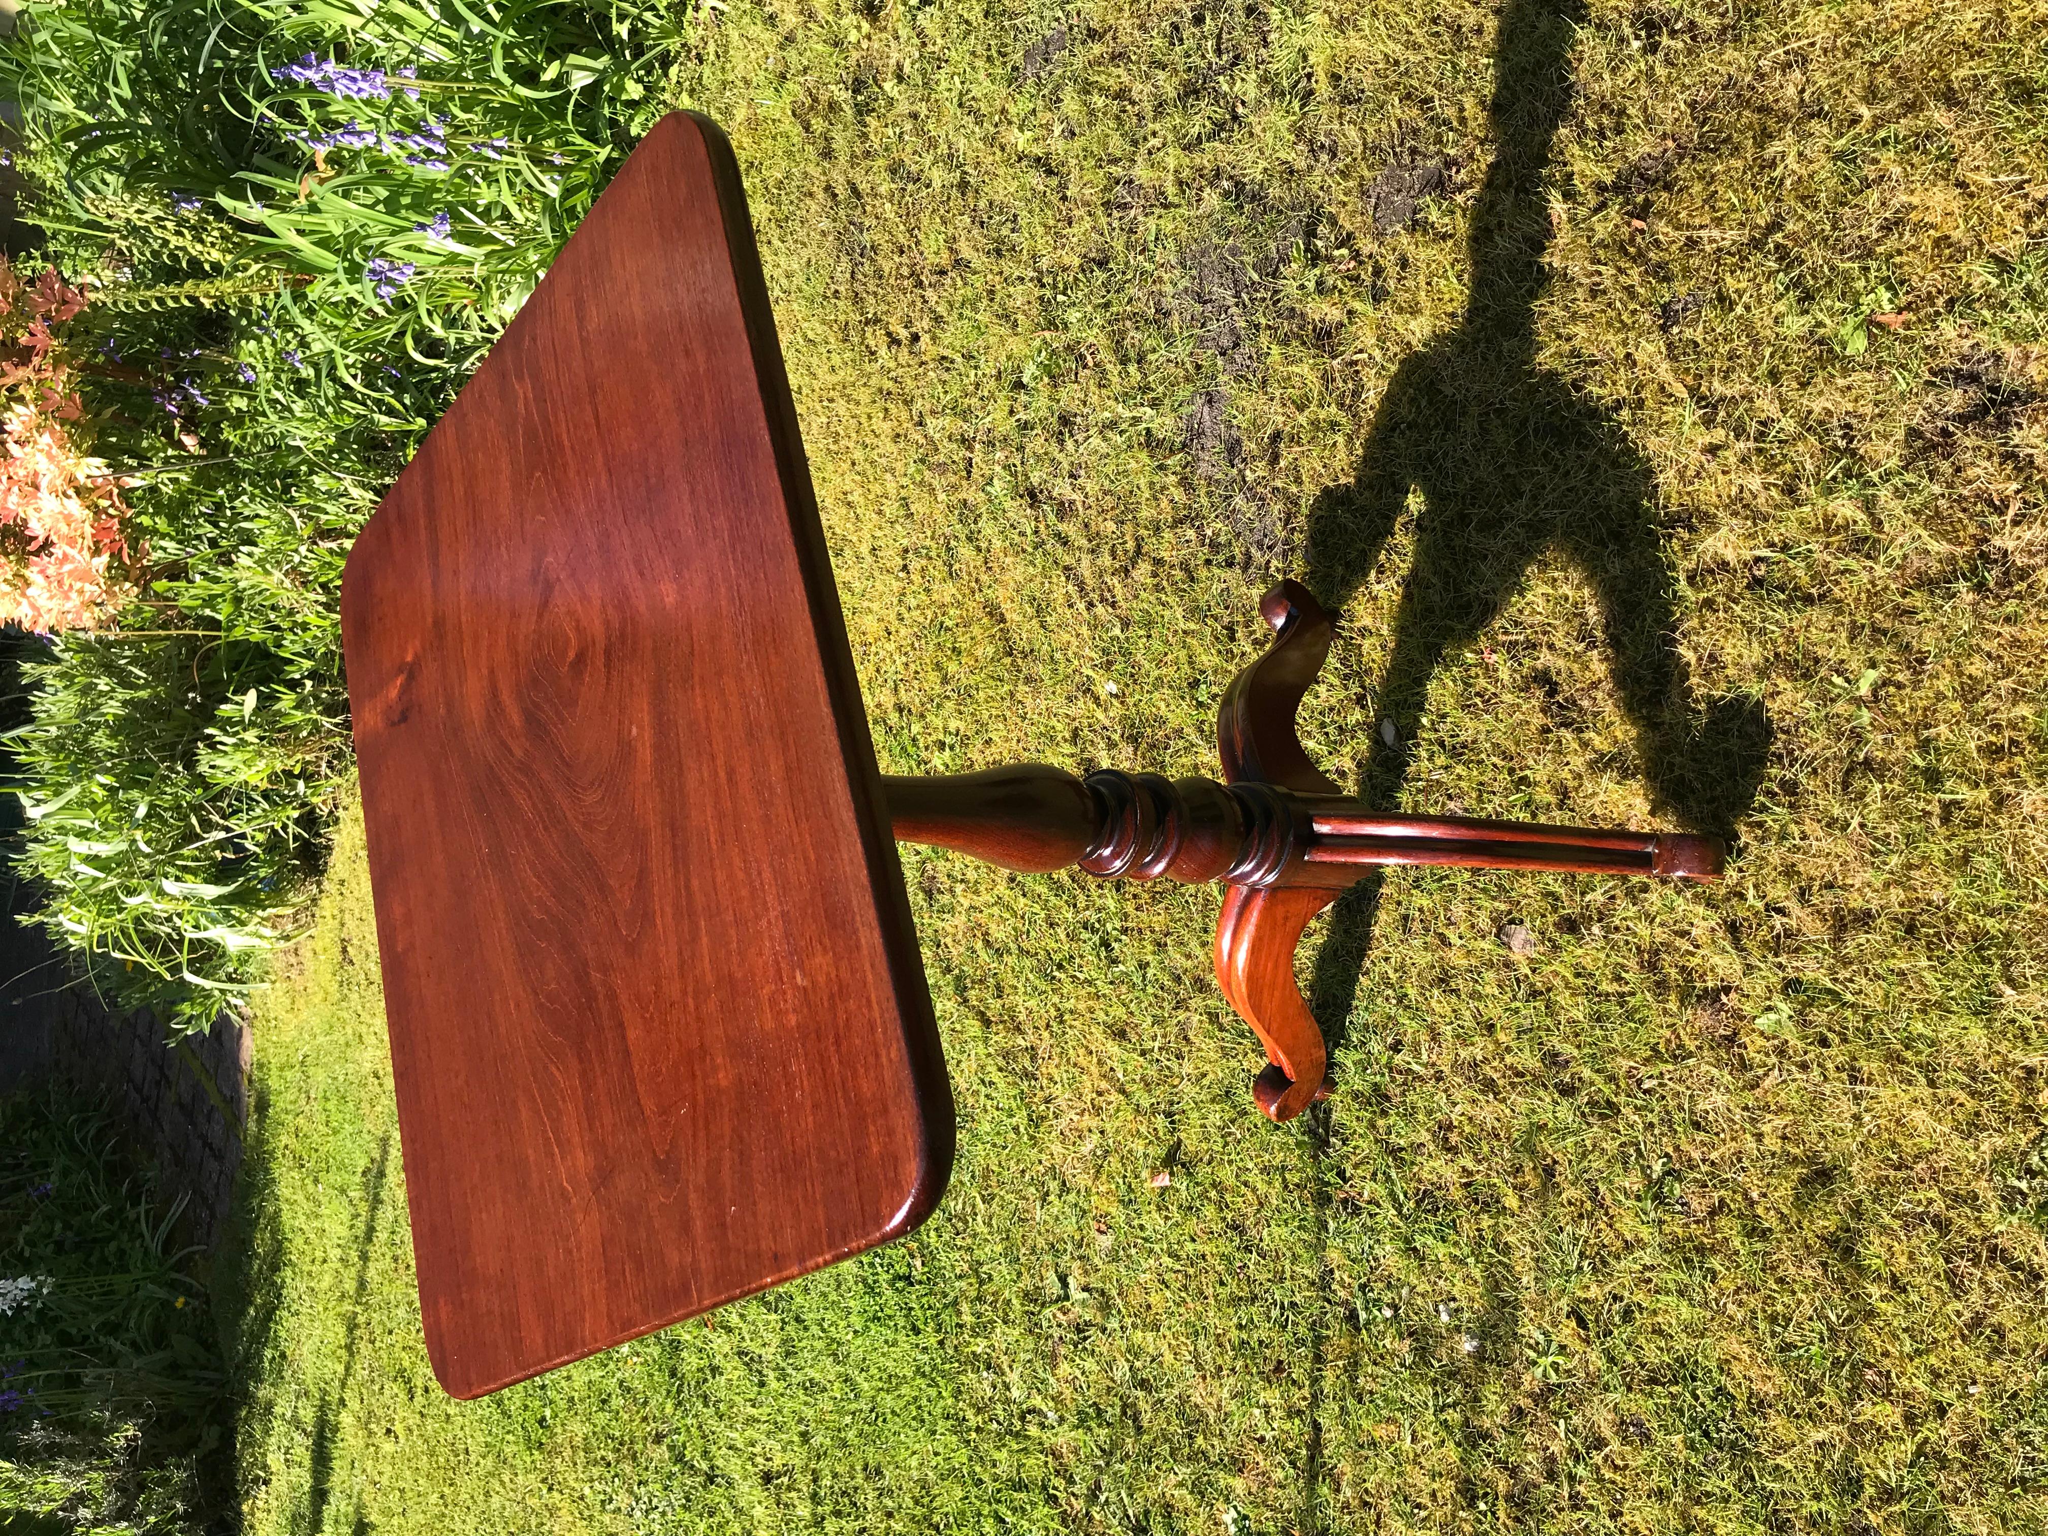
[(348, 766), (334, 657), (293, 674), (281, 649), (78, 637), (25, 668), (20, 770), (57, 788), (23, 797), (23, 866), (102, 989), (190, 1026), (291, 930)]

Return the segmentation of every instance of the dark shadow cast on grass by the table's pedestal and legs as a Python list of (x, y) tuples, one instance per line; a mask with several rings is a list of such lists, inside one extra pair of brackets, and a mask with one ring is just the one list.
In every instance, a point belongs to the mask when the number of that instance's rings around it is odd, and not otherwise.
[[(1331, 612), (1378, 563), (1421, 496), (1415, 559), (1378, 684), (1378, 735), (1358, 795), (1391, 807), (1421, 733), (1430, 680), (1473, 643), (1556, 551), (1591, 582), (1651, 801), (1698, 831), (1733, 838), (1769, 748), (1753, 698), (1700, 707), (1677, 651), (1677, 578), (1659, 537), (1657, 481), (1597, 401), (1536, 358), (1548, 285), (1544, 174), (1571, 104), (1583, 0), (1507, 0), (1489, 102), (1493, 162), (1473, 209), (1470, 291), (1456, 328), (1411, 354), (1380, 397), (1352, 481), (1309, 514), (1307, 584)], [(1391, 737), (1391, 739), (1389, 739)], [(1380, 881), (1333, 911), (1313, 985), (1319, 1016), (1350, 1014)]]

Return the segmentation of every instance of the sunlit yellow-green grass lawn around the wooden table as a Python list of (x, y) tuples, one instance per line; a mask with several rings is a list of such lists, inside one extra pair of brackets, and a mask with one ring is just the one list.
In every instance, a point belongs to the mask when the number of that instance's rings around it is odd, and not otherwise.
[(1214, 772), (1300, 573), (1341, 780), (1733, 831), (1731, 879), (1358, 891), (1303, 956), (1339, 1094), (1274, 1128), (1214, 889), (905, 850), (940, 1212), (457, 1405), (348, 823), (258, 1020), (248, 1528), (2048, 1526), (2044, 33), (709, 10), (672, 88), (748, 176), (885, 770)]

